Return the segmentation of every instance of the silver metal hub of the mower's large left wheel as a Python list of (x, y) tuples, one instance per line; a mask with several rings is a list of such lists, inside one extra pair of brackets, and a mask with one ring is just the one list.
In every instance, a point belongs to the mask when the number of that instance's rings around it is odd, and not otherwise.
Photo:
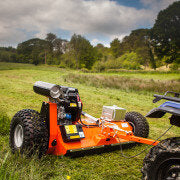
[(23, 138), (23, 127), (20, 124), (18, 124), (14, 130), (14, 144), (17, 148), (20, 148), (22, 146)]

